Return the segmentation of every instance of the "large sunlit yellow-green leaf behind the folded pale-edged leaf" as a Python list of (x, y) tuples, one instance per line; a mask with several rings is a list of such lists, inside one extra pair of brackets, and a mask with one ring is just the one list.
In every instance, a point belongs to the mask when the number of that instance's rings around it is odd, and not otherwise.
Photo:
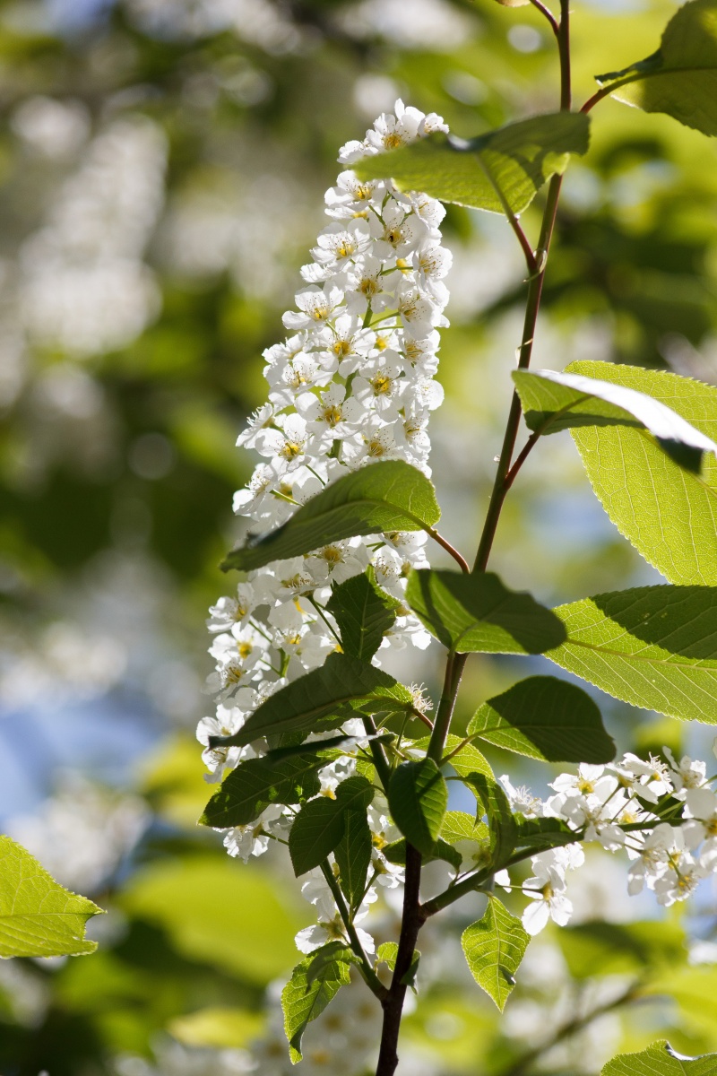
[[(568, 370), (646, 393), (717, 440), (717, 387), (610, 363), (573, 363)], [(603, 508), (645, 560), (671, 583), (717, 586), (717, 461), (705, 455), (702, 476), (691, 475), (643, 429), (571, 433)]]

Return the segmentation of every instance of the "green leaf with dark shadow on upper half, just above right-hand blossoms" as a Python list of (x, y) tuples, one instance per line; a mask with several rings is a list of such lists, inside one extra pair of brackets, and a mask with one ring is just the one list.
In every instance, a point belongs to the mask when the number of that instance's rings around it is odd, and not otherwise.
[(717, 587), (639, 586), (555, 612), (568, 639), (550, 661), (633, 706), (717, 723)]

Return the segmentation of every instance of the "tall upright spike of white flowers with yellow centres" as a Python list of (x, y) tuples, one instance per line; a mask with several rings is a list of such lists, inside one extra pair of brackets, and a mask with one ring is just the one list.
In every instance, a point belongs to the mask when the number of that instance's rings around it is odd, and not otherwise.
[[(365, 140), (347, 143), (339, 159), (352, 164), (439, 129), (445, 130), (440, 116), (399, 100), (395, 115), (379, 116)], [(302, 269), (297, 309), (284, 315), (291, 336), (264, 352), (269, 401), (238, 441), (263, 457), (234, 497), (235, 512), (247, 515), (256, 532), (278, 526), (328, 482), (373, 462), (403, 459), (429, 472), (429, 414), (443, 398), (433, 376), (438, 329), (447, 325), (443, 278), (450, 255), (439, 230), (445, 210), (426, 195), (399, 193), (390, 181), (363, 183), (344, 171), (327, 192), (326, 212), (331, 222)], [(256, 744), (212, 749), (210, 737), (236, 732), (269, 695), (336, 649), (336, 625), (326, 609), (332, 584), (371, 564), (378, 583), (401, 601), (407, 569), (428, 565), (425, 542), (422, 533), (335, 542), (250, 572), (234, 595), (217, 601), (207, 622), (216, 661), (207, 690), (218, 705), (216, 717), (204, 718), (198, 728), (209, 780), (221, 780), (257, 753)], [(429, 641), (418, 620), (399, 606), (383, 647), (411, 642), (425, 649)], [(365, 735), (360, 721), (347, 722), (344, 732)], [(327, 766), (319, 775), (322, 794), (333, 795), (354, 767), (348, 755)], [(245, 861), (261, 854), (272, 837), (286, 837), (293, 813), (267, 808), (252, 825), (227, 832), (227, 850)], [(396, 886), (401, 872), (379, 851), (388, 820), (378, 809), (371, 820), (372, 877)], [(319, 905), (319, 926), (299, 939), (307, 952), (340, 928), (325, 880), (311, 878), (304, 888)], [(365, 900), (373, 898), (372, 888)]]

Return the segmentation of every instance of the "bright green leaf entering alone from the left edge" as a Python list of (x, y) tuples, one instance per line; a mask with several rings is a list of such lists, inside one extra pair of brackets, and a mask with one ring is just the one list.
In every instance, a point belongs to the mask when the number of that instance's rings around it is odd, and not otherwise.
[(33, 855), (0, 835), (0, 958), (95, 952), (85, 923), (102, 908), (64, 889)]

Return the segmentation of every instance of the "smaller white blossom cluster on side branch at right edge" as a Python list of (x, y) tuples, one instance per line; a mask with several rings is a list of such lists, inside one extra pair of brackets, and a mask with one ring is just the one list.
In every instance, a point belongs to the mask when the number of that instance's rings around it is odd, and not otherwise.
[[(625, 851), (628, 892), (634, 895), (646, 887), (658, 904), (670, 907), (717, 873), (717, 794), (706, 763), (688, 756), (676, 762), (670, 748), (663, 751), (666, 763), (628, 753), (610, 766), (580, 765), (577, 774), (561, 774), (550, 785), (555, 795), (545, 801), (514, 788), (506, 776), (501, 783), (513, 810), (525, 818), (560, 819), (579, 840)], [(532, 901), (522, 916), (529, 934), (537, 934), (549, 919), (561, 926), (570, 920), (567, 874), (584, 861), (577, 843), (532, 858), (533, 877), (522, 884)], [(507, 870), (496, 880), (511, 888)]]

